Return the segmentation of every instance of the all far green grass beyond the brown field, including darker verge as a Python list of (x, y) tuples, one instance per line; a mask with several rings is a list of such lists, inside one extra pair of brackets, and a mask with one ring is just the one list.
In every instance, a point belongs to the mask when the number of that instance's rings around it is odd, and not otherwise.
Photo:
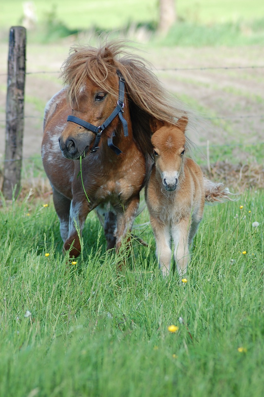
[[(129, 28), (145, 26), (155, 32), (158, 25), (158, 2), (130, 0), (84, 1), (35, 0), (36, 28), (28, 30), (29, 42), (54, 42), (78, 32), (114, 31), (126, 35)], [(166, 38), (152, 37), (158, 45), (215, 46), (252, 45), (264, 42), (264, 5), (260, 0), (181, 0), (176, 2), (177, 23)], [(0, 31), (23, 23), (20, 0), (5, 2), (1, 8)], [(4, 33), (2, 33), (4, 37)], [(130, 37), (131, 38), (131, 37)], [(8, 33), (6, 33), (6, 40)], [(78, 40), (80, 38), (78, 37)], [(89, 40), (89, 39), (87, 39)]]

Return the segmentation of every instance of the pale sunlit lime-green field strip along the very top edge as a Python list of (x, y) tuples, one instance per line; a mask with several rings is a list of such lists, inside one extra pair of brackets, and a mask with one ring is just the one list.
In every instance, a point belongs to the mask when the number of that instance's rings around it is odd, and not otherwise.
[[(152, 0), (129, 0), (125, 6), (121, 0), (35, 0), (34, 5), (39, 23), (55, 10), (58, 19), (69, 29), (89, 29), (94, 25), (101, 29), (117, 29), (131, 21), (149, 23), (158, 20), (158, 3)], [(186, 21), (208, 24), (257, 19), (264, 13), (264, 4), (261, 0), (178, 0), (176, 9), (179, 17)], [(22, 15), (20, 0), (4, 2), (0, 26), (17, 25)]]

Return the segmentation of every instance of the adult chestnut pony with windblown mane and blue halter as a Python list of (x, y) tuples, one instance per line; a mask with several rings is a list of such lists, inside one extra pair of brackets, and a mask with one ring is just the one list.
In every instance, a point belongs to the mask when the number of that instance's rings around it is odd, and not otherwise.
[(45, 108), (42, 161), (64, 251), (79, 255), (77, 229), (94, 208), (103, 219), (107, 249), (118, 250), (152, 163), (150, 117), (176, 123), (184, 110), (118, 40), (75, 46), (62, 76), (65, 88)]

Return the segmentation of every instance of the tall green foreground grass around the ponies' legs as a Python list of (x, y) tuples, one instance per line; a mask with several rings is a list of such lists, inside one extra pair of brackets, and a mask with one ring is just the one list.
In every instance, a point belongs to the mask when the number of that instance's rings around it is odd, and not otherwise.
[(149, 225), (117, 273), (94, 214), (71, 265), (52, 203), (4, 203), (0, 395), (262, 396), (263, 198), (206, 206), (186, 284), (160, 276)]

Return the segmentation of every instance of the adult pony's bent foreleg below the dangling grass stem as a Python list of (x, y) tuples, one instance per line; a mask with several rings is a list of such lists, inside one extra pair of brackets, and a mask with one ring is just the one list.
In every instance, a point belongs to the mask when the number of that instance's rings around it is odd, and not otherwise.
[(81, 253), (79, 235), (81, 235), (83, 231), (85, 220), (89, 212), (90, 208), (87, 200), (77, 201), (73, 198), (69, 212), (69, 233), (63, 246), (64, 251), (70, 250), (71, 257), (76, 258)]

